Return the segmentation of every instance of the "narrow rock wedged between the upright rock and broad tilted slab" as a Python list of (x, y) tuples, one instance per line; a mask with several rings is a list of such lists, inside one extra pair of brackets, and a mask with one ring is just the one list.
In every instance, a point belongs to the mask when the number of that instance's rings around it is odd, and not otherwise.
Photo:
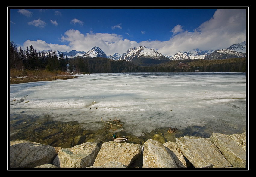
[(178, 145), (175, 142), (168, 141), (168, 142), (164, 143), (163, 145), (166, 147), (167, 151), (172, 155), (176, 165), (179, 168), (187, 167), (185, 158), (184, 158), (183, 154), (181, 153), (180, 148), (178, 147)]

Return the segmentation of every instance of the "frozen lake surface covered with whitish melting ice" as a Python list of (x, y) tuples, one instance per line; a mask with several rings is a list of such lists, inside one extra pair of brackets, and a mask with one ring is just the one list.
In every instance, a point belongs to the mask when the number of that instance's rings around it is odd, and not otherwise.
[[(10, 117), (51, 116), (101, 129), (120, 118), (136, 137), (159, 128), (243, 133), (246, 129), (245, 73), (112, 73), (10, 85)], [(14, 104), (14, 99), (27, 96)], [(95, 102), (95, 103), (93, 103)], [(16, 103), (16, 102), (15, 102)], [(196, 127), (193, 130), (193, 127)], [(118, 133), (117, 133), (118, 134)]]

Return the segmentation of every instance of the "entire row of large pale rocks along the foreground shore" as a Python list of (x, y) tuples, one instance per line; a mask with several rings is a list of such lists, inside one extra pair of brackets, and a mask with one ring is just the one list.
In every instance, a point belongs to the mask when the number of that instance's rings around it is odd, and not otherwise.
[(29, 141), (10, 142), (11, 168), (246, 168), (246, 134), (212, 133), (209, 138), (180, 137), (164, 144), (149, 139), (144, 145), (105, 142), (101, 148), (86, 142), (72, 148), (58, 148)]

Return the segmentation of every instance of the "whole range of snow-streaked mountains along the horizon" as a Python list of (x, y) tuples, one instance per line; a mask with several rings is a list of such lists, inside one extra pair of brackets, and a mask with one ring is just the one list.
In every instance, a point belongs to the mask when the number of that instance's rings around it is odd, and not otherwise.
[[(53, 53), (52, 50), (42, 51), (45, 53), (45, 56), (50, 52)], [(112, 60), (126, 60), (133, 61), (138, 58), (150, 58), (151, 60), (186, 60), (186, 59), (225, 59), (225, 58), (241, 58), (246, 57), (246, 41), (238, 44), (233, 44), (226, 49), (219, 50), (206, 50), (201, 51), (199, 49), (194, 49), (191, 51), (180, 52), (178, 51), (173, 56), (164, 56), (161, 53), (153, 49), (146, 48), (144, 46), (133, 47), (128, 49), (122, 55), (119, 53), (115, 53), (114, 55), (107, 56), (104, 51), (102, 51), (99, 47), (95, 46), (91, 50), (84, 51), (76, 51), (71, 50), (69, 52), (59, 52), (55, 51), (56, 56), (59, 58), (60, 54), (63, 53), (64, 58), (72, 58), (75, 56), (79, 56), (82, 58), (94, 58), (94, 57), (102, 57), (102, 58), (111, 58)]]

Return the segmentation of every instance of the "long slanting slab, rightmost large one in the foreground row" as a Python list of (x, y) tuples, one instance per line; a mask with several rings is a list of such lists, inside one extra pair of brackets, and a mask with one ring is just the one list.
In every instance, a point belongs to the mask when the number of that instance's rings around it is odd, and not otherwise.
[(212, 133), (210, 139), (220, 149), (223, 156), (232, 164), (233, 167), (246, 167), (246, 151), (231, 136)]

